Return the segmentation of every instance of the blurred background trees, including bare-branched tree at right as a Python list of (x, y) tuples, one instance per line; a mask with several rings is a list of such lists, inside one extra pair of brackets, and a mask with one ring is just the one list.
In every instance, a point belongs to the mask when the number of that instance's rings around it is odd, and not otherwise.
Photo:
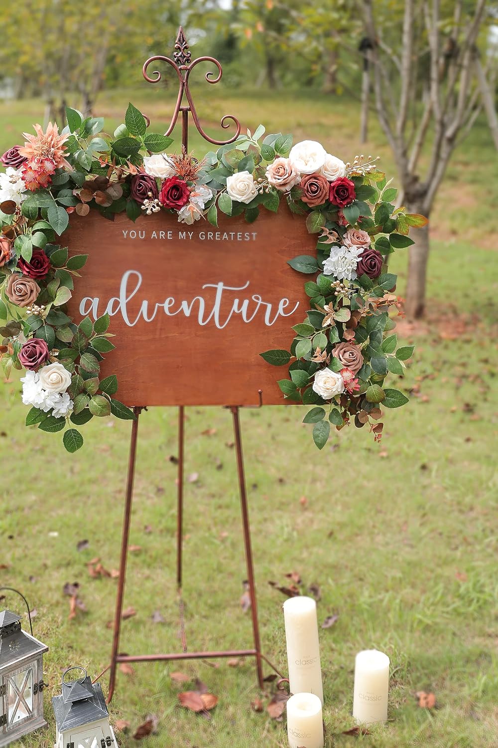
[[(43, 96), (46, 118), (59, 122), (75, 91), (86, 114), (103, 88), (130, 85), (148, 55), (168, 52), (180, 23), (196, 54), (220, 59), (225, 85), (357, 99), (362, 140), (377, 117), (393, 150), (400, 203), (429, 218), (455, 147), (481, 112), (498, 148), (494, 2), (23, 0), (3, 2), (0, 22), (4, 84), (18, 97)], [(428, 257), (421, 230), (408, 267), (413, 317), (424, 313)]]

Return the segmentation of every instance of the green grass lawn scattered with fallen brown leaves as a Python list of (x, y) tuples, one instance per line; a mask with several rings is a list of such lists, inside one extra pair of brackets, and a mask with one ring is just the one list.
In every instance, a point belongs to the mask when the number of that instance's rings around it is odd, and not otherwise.
[[(199, 114), (214, 123), (225, 112), (252, 129), (310, 137), (338, 156), (380, 153), (391, 161), (373, 123), (371, 144), (357, 142), (358, 111), (344, 100), (316, 96), (199, 92)], [(121, 120), (128, 98), (151, 116), (167, 119), (169, 91), (144, 84), (134, 92), (102, 96), (96, 110)], [(277, 101), (277, 104), (276, 104)], [(0, 148), (43, 117), (39, 101), (0, 110)], [(220, 136), (221, 137), (221, 136)], [(374, 143), (379, 144), (378, 147)], [(199, 149), (200, 139), (192, 138)], [(423, 324), (402, 322), (416, 355), (399, 383), (411, 403), (385, 417), (385, 437), (373, 444), (367, 429), (343, 429), (318, 453), (302, 408), (242, 412), (246, 472), (264, 652), (286, 670), (284, 596), (268, 584), (302, 577), (302, 591), (318, 584), (327, 726), (326, 746), (492, 748), (498, 744), (497, 600), (497, 255), (496, 156), (484, 123), (455, 154), (432, 221), (429, 313)], [(405, 283), (405, 255), (392, 266)], [(87, 563), (100, 557), (119, 565), (129, 423), (106, 420), (84, 427), (80, 453), (63, 453), (60, 439), (23, 426), (26, 408), (14, 380), (0, 387), (3, 456), (0, 580), (18, 587), (36, 608), (34, 634), (46, 656), (49, 732), (21, 741), (48, 748), (55, 735), (49, 696), (60, 693), (67, 666), (94, 677), (108, 665), (116, 580), (93, 579)], [(152, 408), (140, 420), (137, 478), (121, 652), (179, 651), (175, 592), (175, 456), (177, 412)], [(210, 430), (205, 434), (206, 429)], [(188, 408), (185, 521), (186, 627), (190, 649), (252, 646), (249, 613), (240, 607), (246, 571), (231, 416), (222, 408)], [(194, 480), (194, 473), (198, 476)], [(306, 498), (306, 502), (302, 501)], [(79, 541), (89, 546), (77, 550)], [(68, 621), (65, 583), (78, 581), (87, 608)], [(20, 610), (14, 598), (8, 606)], [(3, 607), (3, 603), (2, 606)], [(164, 623), (152, 622), (160, 611)], [(391, 662), (389, 722), (370, 735), (341, 735), (353, 725), (355, 653), (375, 647)], [(147, 746), (232, 748), (287, 745), (285, 723), (256, 713), (260, 696), (252, 660), (181, 666), (137, 663), (119, 673), (113, 720), (128, 720), (122, 748), (146, 715), (158, 717)], [(200, 678), (219, 697), (211, 720), (182, 709), (170, 673)], [(270, 669), (267, 668), (267, 674)], [(102, 678), (107, 688), (107, 676)], [(183, 686), (188, 689), (187, 684)], [(273, 685), (269, 684), (269, 693)], [(437, 708), (417, 706), (414, 694), (435, 693)], [(266, 706), (269, 696), (264, 696)]]

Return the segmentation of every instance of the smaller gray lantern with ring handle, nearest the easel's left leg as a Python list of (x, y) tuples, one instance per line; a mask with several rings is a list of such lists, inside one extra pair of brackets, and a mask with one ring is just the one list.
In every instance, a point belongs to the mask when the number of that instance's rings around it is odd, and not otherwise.
[[(77, 680), (66, 677), (72, 671), (79, 673)], [(53, 697), (52, 707), (57, 723), (54, 748), (117, 748), (102, 686), (92, 683), (84, 668), (66, 670), (62, 693)]]

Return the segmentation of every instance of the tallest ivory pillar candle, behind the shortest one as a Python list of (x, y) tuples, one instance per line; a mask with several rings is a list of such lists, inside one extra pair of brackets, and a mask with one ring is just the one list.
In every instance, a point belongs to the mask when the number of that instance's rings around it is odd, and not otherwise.
[(314, 693), (323, 704), (317, 604), (298, 595), (284, 602), (290, 693)]

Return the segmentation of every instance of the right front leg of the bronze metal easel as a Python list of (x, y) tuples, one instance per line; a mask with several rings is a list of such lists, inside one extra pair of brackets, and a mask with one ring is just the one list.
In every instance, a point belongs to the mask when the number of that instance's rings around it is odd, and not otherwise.
[(251, 526), (249, 524), (249, 508), (247, 505), (246, 476), (244, 474), (244, 458), (242, 451), (242, 435), (240, 432), (240, 414), (237, 405), (232, 406), (231, 414), (234, 421), (235, 450), (237, 453), (237, 473), (239, 477), (240, 509), (242, 511), (242, 524), (244, 536), (244, 548), (246, 550), (247, 581), (249, 583), (249, 597), (251, 600), (252, 634), (254, 637), (256, 672), (258, 684), (263, 688), (263, 667), (261, 663), (261, 637), (258, 622), (258, 601), (256, 598), (256, 585), (254, 574), (254, 562), (252, 560)]

